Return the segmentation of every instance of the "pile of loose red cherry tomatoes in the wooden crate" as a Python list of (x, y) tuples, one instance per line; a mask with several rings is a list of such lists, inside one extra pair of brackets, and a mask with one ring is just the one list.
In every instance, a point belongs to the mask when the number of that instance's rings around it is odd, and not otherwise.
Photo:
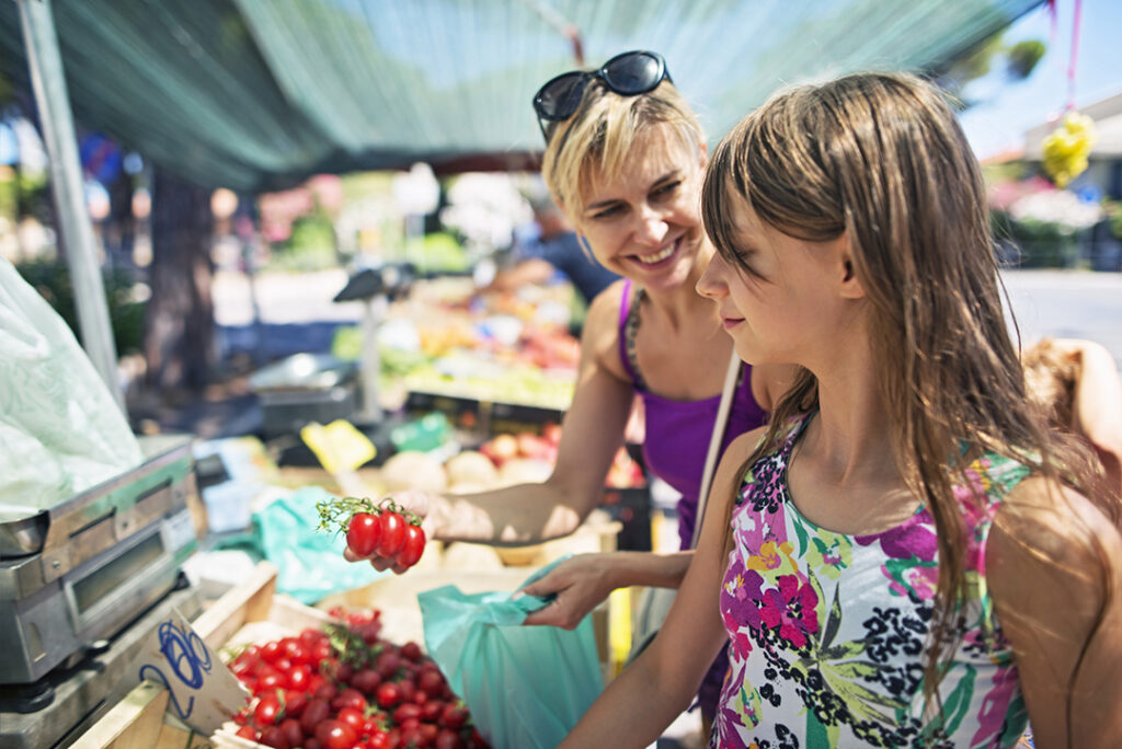
[(230, 669), (254, 693), (237, 734), (275, 749), (480, 749), (467, 706), (416, 642), (379, 637), (377, 610), (251, 645)]

